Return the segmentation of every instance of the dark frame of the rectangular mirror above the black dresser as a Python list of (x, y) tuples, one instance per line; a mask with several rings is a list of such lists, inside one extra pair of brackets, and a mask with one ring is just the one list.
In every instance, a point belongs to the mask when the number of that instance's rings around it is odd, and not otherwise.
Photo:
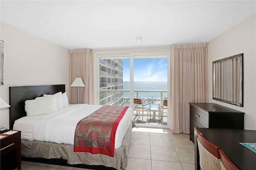
[[(240, 89), (239, 89), (239, 93), (240, 93), (240, 103), (236, 103), (234, 101), (228, 101), (228, 100), (224, 100), (224, 99), (220, 99), (220, 98), (216, 98), (214, 97), (214, 92), (215, 92), (215, 87), (214, 87), (214, 78), (215, 78), (215, 69), (214, 69), (214, 63), (220, 63), (222, 61), (226, 61), (226, 60), (229, 60), (229, 59), (234, 59), (234, 58), (238, 58), (240, 59), (240, 75), (241, 75), (241, 79), (239, 81), (240, 83)], [(225, 102), (225, 103), (229, 103), (229, 104), (232, 104), (232, 105), (237, 105), (237, 106), (240, 106), (240, 107), (243, 107), (244, 104), (243, 104), (243, 100), (244, 100), (244, 97), (243, 97), (243, 91), (244, 91), (244, 86), (243, 86), (243, 53), (241, 54), (238, 54), (238, 55), (234, 55), (234, 56), (231, 56), (231, 57), (227, 57), (227, 58), (224, 58), (224, 59), (220, 59), (220, 60), (217, 60), (217, 61), (213, 61), (212, 62), (212, 99), (214, 100), (218, 100), (218, 101), (222, 101), (222, 102)], [(220, 89), (218, 89), (220, 90)], [(235, 93), (233, 91), (233, 93)]]

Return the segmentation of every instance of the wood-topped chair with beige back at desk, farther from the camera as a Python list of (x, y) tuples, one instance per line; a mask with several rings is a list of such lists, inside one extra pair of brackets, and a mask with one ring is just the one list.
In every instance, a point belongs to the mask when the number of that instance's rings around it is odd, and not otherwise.
[(207, 140), (198, 129), (197, 143), (199, 150), (200, 169), (202, 170), (221, 170), (219, 147)]

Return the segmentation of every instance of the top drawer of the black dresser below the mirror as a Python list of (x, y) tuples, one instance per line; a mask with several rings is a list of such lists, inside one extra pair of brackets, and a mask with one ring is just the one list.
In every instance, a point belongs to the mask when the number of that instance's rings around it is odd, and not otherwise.
[[(194, 107), (190, 106), (190, 118), (200, 123), (203, 127), (208, 128), (208, 115), (198, 111)], [(193, 127), (194, 128), (194, 127)]]

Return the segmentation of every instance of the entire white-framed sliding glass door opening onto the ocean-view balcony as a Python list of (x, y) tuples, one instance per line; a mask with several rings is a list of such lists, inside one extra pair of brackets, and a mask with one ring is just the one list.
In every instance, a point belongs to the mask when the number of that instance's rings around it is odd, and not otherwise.
[(170, 128), (170, 108), (163, 106), (170, 102), (169, 56), (168, 51), (97, 55), (98, 104), (130, 106), (137, 127)]

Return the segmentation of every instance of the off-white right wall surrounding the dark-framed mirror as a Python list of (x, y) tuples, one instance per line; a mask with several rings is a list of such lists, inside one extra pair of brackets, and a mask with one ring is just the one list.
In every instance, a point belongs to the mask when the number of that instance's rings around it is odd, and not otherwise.
[[(209, 42), (209, 102), (245, 113), (244, 129), (256, 130), (256, 14)], [(212, 99), (212, 61), (244, 53), (244, 107)]]

